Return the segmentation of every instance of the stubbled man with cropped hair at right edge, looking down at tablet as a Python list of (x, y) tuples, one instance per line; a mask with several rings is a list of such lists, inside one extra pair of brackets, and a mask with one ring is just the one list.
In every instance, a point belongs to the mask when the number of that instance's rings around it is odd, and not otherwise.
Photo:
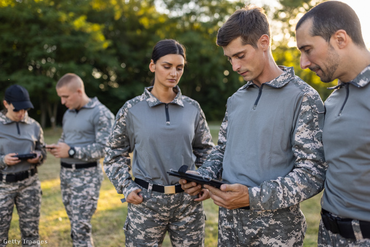
[(328, 163), (318, 246), (370, 246), (370, 52), (347, 4), (328, 1), (297, 23), (301, 67), (324, 83), (338, 79), (325, 101)]

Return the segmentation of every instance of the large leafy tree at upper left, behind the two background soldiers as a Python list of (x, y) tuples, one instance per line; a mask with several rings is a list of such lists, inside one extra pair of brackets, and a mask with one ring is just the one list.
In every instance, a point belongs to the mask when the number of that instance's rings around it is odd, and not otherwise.
[[(87, 1), (2, 1), (0, 4), (0, 78), (5, 87), (23, 85), (40, 109), (42, 126), (47, 112), (55, 125), (59, 98), (55, 83), (75, 72), (94, 88), (92, 69), (109, 42), (104, 25), (88, 20)], [(91, 10), (92, 11), (92, 10)], [(34, 113), (33, 113), (34, 114)]]

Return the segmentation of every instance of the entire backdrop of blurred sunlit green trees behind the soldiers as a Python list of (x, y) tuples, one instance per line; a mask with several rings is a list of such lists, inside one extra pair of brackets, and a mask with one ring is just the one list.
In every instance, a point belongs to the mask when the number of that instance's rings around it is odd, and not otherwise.
[[(318, 1), (279, 0), (279, 7), (262, 7), (271, 20), (277, 64), (293, 66), (325, 100), (328, 85), (300, 69), (294, 38), (297, 17)], [(187, 49), (182, 93), (201, 104), (209, 121), (222, 120), (227, 97), (245, 81), (217, 47), (216, 34), (245, 4), (249, 2), (0, 0), (0, 97), (12, 84), (24, 86), (35, 105), (30, 115), (43, 127), (55, 127), (66, 110), (55, 85), (73, 72), (81, 76), (90, 97), (97, 96), (117, 113), (126, 100), (150, 85), (152, 48), (168, 38)]]

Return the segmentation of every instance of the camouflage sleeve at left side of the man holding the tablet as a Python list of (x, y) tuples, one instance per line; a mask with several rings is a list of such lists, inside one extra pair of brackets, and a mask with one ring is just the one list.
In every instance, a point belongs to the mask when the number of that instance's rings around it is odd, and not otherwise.
[(227, 133), (227, 109), (225, 117), (223, 118), (220, 132), (218, 133), (217, 146), (212, 148), (211, 154), (207, 157), (203, 165), (196, 170), (202, 175), (210, 176), (213, 179), (221, 180), (223, 154), (226, 147), (226, 133)]

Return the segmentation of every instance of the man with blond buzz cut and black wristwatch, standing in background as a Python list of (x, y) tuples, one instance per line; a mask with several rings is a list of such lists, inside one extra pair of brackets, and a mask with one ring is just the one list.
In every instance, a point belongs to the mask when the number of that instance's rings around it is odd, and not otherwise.
[(63, 116), (61, 139), (47, 148), (61, 158), (62, 199), (71, 222), (73, 246), (94, 246), (91, 218), (103, 178), (99, 159), (104, 156), (114, 115), (96, 97), (86, 95), (76, 74), (64, 75), (56, 92), (68, 110)]

